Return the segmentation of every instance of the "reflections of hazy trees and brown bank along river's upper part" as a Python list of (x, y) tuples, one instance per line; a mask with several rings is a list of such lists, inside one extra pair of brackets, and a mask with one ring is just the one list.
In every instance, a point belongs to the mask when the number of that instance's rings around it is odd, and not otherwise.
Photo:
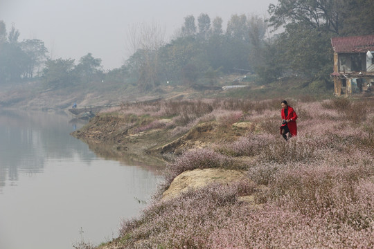
[[(126, 154), (114, 145), (84, 142), (69, 133), (82, 123), (69, 122), (66, 114), (47, 112), (0, 111), (0, 191), (6, 181), (19, 180), (19, 173), (43, 172), (48, 158), (71, 160), (78, 156), (90, 164), (96, 155), (135, 165), (159, 175), (164, 163), (157, 158)], [(94, 151), (94, 153), (92, 152)]]

